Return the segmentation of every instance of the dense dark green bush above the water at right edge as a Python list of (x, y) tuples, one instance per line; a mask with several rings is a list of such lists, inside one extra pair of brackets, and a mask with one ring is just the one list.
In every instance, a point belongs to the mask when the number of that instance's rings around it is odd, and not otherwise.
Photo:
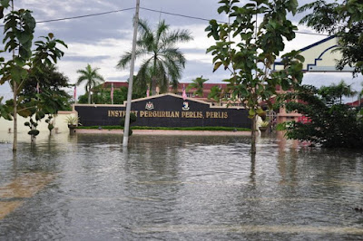
[[(336, 86), (330, 86), (335, 89)], [(324, 94), (329, 87), (324, 87)], [(334, 100), (335, 93), (330, 96), (322, 96), (321, 89), (304, 85), (289, 93), (285, 97), (288, 100), (297, 98), (303, 102), (288, 101), (287, 111), (298, 111), (308, 117), (310, 122), (301, 123), (290, 121), (280, 126), (280, 130), (287, 130), (289, 139), (308, 140), (314, 144), (320, 144), (326, 148), (358, 148), (363, 146), (363, 120), (359, 117), (359, 110), (348, 105), (328, 100)], [(344, 94), (343, 94), (344, 95)]]

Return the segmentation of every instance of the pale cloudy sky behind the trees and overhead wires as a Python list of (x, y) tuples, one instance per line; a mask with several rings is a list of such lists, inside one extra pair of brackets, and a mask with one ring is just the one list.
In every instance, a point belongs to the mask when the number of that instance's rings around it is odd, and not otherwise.
[[(208, 21), (202, 19), (217, 19), (225, 21), (225, 17), (217, 13), (218, 0), (141, 0), (140, 17), (154, 26), (160, 19), (165, 19), (172, 29), (188, 29), (194, 38), (189, 43), (179, 47), (185, 53), (187, 64), (180, 82), (191, 82), (192, 79), (203, 75), (209, 82), (221, 82), (228, 77), (228, 72), (212, 73), (211, 55), (206, 49), (213, 43), (207, 38), (204, 29)], [(242, 1), (241, 1), (242, 2)], [(299, 0), (299, 5), (311, 0)], [(63, 21), (38, 23), (35, 36), (54, 33), (56, 38), (64, 40), (68, 49), (64, 49), (64, 58), (57, 64), (59, 71), (68, 76), (71, 83), (76, 82), (79, 69), (87, 63), (100, 68), (100, 73), (106, 81), (126, 81), (129, 70), (115, 68), (120, 56), (132, 48), (132, 16), (135, 12), (136, 0), (15, 0), (15, 9), (26, 8), (33, 11), (37, 22), (80, 17)], [(153, 10), (153, 11), (152, 11)], [(111, 14), (102, 14), (112, 12)], [(170, 13), (170, 14), (166, 14)], [(184, 16), (182, 16), (184, 15)], [(190, 16), (190, 17), (186, 17)], [(301, 15), (291, 16), (298, 24)], [(305, 26), (299, 25), (299, 32), (314, 33)], [(286, 50), (300, 49), (311, 43), (318, 42), (326, 36), (297, 34), (297, 38), (287, 43)], [(138, 70), (136, 63), (135, 72)], [(307, 73), (304, 83), (327, 85), (344, 79), (353, 83), (360, 90), (361, 76), (351, 78), (351, 73)], [(78, 88), (82, 94), (83, 87)], [(71, 90), (70, 90), (71, 92)], [(8, 86), (0, 86), (0, 96), (11, 97)]]

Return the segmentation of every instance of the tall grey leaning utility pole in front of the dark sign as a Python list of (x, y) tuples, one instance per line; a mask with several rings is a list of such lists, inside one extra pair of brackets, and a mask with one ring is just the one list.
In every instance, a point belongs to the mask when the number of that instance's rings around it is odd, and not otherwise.
[(136, 50), (136, 38), (137, 38), (137, 27), (139, 24), (139, 8), (140, 0), (136, 0), (136, 13), (133, 19), (133, 39), (132, 39), (132, 54), (130, 64), (130, 79), (129, 89), (127, 92), (127, 104), (126, 104), (126, 116), (123, 128), (123, 147), (127, 147), (129, 142), (129, 130), (130, 130), (130, 111), (131, 111), (131, 100), (132, 100), (132, 81), (133, 81), (133, 68), (135, 65), (135, 50)]

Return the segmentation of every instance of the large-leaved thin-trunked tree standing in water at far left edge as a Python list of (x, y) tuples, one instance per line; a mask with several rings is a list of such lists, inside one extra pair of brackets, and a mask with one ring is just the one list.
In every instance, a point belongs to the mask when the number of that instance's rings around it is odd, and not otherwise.
[[(65, 43), (54, 38), (54, 34), (44, 36), (44, 41), (34, 42), (35, 49), (32, 50), (34, 40), (35, 19), (32, 12), (25, 9), (14, 9), (12, 3), (12, 11), (5, 15), (4, 39), (5, 51), (13, 53), (12, 60), (6, 61), (0, 58), (3, 66), (0, 70), (0, 84), (8, 82), (12, 87), (14, 98), (6, 101), (2, 107), (1, 115), (5, 119), (9, 119), (9, 111), (12, 112), (14, 122), (14, 141), (13, 150), (17, 149), (17, 114), (24, 117), (31, 115), (29, 107), (23, 107), (19, 101), (19, 92), (22, 91), (25, 80), (29, 72), (35, 69), (42, 69), (44, 66), (56, 63), (64, 53), (58, 49), (61, 44), (66, 47)], [(4, 17), (5, 8), (10, 7), (10, 0), (0, 1), (0, 18)], [(20, 98), (21, 99), (21, 98)], [(37, 103), (34, 101), (34, 103)]]

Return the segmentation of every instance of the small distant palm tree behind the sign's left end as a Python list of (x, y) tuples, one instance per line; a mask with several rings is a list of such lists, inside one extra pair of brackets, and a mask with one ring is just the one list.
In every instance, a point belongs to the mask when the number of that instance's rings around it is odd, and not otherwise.
[(82, 82), (85, 83), (85, 92), (88, 92), (88, 103), (91, 103), (91, 90), (93, 87), (99, 85), (104, 82), (103, 76), (100, 75), (97, 71), (100, 68), (92, 69), (91, 65), (88, 63), (87, 67), (84, 70), (78, 70), (77, 73), (81, 74), (78, 77), (77, 85), (80, 85)]

